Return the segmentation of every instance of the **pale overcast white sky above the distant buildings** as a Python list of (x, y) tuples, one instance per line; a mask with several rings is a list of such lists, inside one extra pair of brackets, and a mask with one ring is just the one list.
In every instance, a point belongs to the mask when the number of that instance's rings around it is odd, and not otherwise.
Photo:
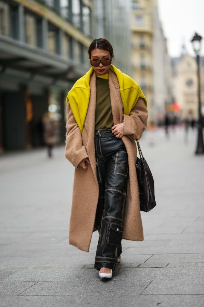
[(190, 42), (194, 33), (203, 37), (201, 55), (204, 56), (204, 0), (158, 0), (159, 19), (170, 56), (180, 56), (182, 42), (187, 52), (195, 56)]

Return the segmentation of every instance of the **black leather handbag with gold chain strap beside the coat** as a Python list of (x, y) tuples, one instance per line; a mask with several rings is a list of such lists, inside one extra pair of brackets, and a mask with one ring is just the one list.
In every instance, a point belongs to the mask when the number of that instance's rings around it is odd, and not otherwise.
[(137, 157), (135, 163), (139, 188), (140, 211), (149, 212), (156, 206), (154, 196), (154, 179), (147, 161), (143, 157), (138, 139), (136, 139), (136, 142), (140, 156), (140, 158)]

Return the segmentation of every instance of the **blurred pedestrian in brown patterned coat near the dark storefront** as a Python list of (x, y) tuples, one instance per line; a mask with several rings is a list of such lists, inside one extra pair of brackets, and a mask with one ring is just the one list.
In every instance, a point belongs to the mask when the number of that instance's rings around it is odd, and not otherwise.
[(43, 123), (43, 138), (47, 146), (48, 157), (52, 157), (52, 150), (55, 143), (56, 128), (55, 121), (49, 112), (46, 112), (42, 118)]

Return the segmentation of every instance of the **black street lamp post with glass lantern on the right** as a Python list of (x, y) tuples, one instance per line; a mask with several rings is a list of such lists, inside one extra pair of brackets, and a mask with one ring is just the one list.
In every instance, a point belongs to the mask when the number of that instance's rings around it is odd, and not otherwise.
[(191, 40), (193, 44), (193, 49), (196, 54), (197, 62), (197, 75), (198, 75), (198, 139), (197, 139), (197, 148), (195, 154), (204, 154), (204, 144), (203, 144), (203, 135), (202, 135), (202, 113), (201, 113), (201, 94), (200, 94), (200, 49), (201, 49), (201, 40), (202, 36), (195, 33), (194, 37)]

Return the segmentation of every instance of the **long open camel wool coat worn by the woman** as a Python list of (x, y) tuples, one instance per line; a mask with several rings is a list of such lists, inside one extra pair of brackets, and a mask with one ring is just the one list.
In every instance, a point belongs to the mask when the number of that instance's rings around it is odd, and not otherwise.
[[(81, 134), (67, 102), (65, 157), (75, 167), (72, 193), (72, 209), (69, 225), (69, 244), (82, 251), (89, 251), (94, 229), (95, 213), (98, 203), (99, 187), (95, 159), (95, 106), (96, 74), (90, 77), (90, 98)], [(109, 70), (109, 89), (114, 125), (123, 120), (123, 103), (116, 74)], [(143, 241), (143, 226), (140, 214), (139, 191), (135, 162), (137, 146), (147, 127), (148, 111), (143, 98), (139, 98), (129, 115), (124, 115), (124, 135), (122, 141), (128, 153), (129, 177), (124, 214), (123, 239)], [(78, 164), (88, 157), (91, 165), (83, 169)]]

